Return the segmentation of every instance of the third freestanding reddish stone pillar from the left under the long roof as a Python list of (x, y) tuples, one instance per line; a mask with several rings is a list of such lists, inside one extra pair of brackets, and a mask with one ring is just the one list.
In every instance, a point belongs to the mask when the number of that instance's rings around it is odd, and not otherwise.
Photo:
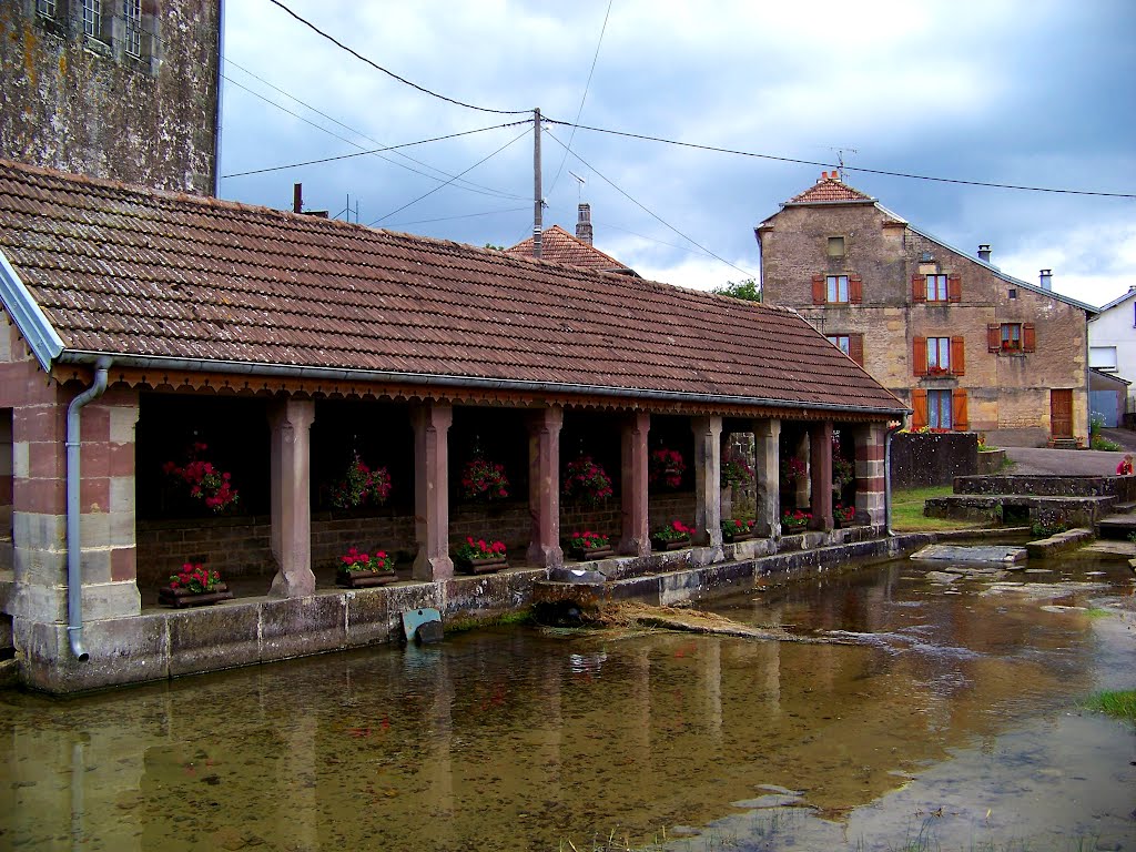
[(527, 560), (542, 568), (560, 568), (560, 406), (534, 411), (528, 419), (528, 515), (532, 535)]

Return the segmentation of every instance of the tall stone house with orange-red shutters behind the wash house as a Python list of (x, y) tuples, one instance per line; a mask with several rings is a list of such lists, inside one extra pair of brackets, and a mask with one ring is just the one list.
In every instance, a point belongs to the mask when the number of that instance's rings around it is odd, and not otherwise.
[(757, 226), (762, 292), (912, 409), (995, 444), (1088, 435), (1089, 304), (1001, 272), (824, 173)]

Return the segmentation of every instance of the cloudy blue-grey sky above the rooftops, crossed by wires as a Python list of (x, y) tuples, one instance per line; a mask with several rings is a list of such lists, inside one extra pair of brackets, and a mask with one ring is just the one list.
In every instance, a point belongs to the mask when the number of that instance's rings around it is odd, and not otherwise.
[(922, 178), (1136, 195), (1134, 39), (1130, 0), (228, 0), (220, 195), (291, 209), (302, 183), (307, 210), (512, 245), (540, 108), (544, 226), (588, 202), (595, 247), (644, 277), (760, 277), (753, 227), (843, 162), (920, 229), (1100, 306), (1136, 286), (1136, 198)]

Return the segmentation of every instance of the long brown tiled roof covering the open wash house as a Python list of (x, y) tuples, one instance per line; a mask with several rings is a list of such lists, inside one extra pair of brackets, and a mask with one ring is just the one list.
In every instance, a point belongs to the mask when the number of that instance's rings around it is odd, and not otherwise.
[(903, 410), (790, 310), (5, 160), (0, 252), (62, 361)]

